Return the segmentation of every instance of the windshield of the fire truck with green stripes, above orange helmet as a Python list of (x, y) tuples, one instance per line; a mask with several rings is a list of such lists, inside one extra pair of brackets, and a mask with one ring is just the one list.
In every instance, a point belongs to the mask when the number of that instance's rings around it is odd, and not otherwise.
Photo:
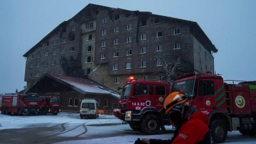
[(194, 79), (188, 80), (188, 81), (180, 81), (177, 83), (173, 83), (172, 85), (172, 92), (183, 92), (186, 97), (192, 97), (194, 96), (195, 90), (193, 91), (194, 88)]

